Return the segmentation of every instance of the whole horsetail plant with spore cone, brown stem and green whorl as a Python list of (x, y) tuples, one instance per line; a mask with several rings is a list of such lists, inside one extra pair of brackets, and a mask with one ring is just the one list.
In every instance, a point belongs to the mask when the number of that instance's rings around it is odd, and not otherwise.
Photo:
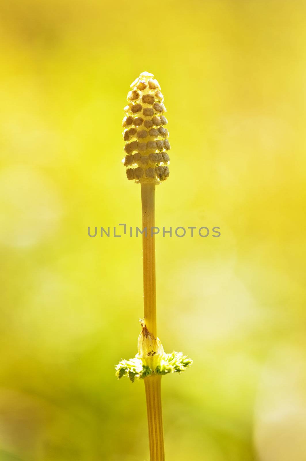
[(153, 74), (142, 72), (131, 84), (123, 120), (126, 176), (141, 184), (144, 319), (141, 320), (138, 353), (133, 359), (118, 363), (116, 376), (118, 379), (127, 376), (132, 383), (135, 378), (144, 381), (150, 461), (165, 460), (162, 375), (182, 372), (192, 364), (182, 352), (165, 354), (156, 331), (155, 239), (152, 231), (155, 226), (155, 186), (169, 177), (170, 163), (163, 100)]

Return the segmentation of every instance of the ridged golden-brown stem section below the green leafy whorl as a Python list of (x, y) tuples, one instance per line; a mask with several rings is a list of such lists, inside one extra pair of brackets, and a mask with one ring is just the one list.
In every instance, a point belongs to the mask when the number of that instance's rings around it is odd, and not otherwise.
[(150, 461), (165, 461), (164, 427), (161, 408), (161, 376), (144, 378), (149, 428)]

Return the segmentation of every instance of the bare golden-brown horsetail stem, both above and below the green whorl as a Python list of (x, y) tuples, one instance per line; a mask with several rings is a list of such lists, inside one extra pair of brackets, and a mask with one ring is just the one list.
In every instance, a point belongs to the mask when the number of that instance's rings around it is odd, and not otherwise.
[[(156, 278), (155, 278), (155, 236), (151, 228), (155, 226), (155, 184), (141, 183), (142, 229), (147, 228), (147, 236), (142, 234), (143, 264), (143, 307), (146, 325), (156, 335)], [(161, 376), (144, 378), (149, 429), (150, 461), (165, 461), (163, 416), (161, 408)]]

